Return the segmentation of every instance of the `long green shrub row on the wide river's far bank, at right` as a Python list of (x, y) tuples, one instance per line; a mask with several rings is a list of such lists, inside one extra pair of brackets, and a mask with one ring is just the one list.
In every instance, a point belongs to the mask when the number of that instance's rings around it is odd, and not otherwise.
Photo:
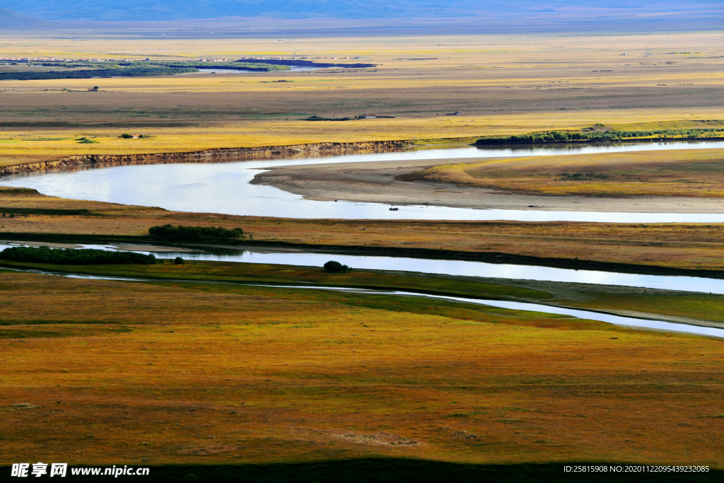
[(546, 133), (521, 134), (502, 136), (500, 138), (480, 138), (476, 140), (477, 145), (490, 144), (544, 144), (544, 143), (567, 143), (571, 141), (588, 141), (590, 143), (602, 143), (612, 140), (631, 138), (706, 138), (717, 133), (724, 133), (723, 128), (708, 129), (662, 129), (652, 131), (606, 131), (605, 133), (580, 132), (564, 133), (560, 131), (548, 131)]

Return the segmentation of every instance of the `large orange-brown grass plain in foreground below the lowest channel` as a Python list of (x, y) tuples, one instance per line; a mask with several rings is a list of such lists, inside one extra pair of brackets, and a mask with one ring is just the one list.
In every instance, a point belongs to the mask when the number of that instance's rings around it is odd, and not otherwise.
[(724, 462), (720, 340), (270, 287), (0, 290), (4, 461)]

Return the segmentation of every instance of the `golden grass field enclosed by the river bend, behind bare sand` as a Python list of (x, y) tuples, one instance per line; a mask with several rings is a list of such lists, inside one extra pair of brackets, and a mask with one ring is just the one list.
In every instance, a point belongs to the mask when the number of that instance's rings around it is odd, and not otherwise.
[(496, 159), (442, 164), (405, 179), (553, 196), (720, 198), (724, 196), (724, 153), (682, 149)]

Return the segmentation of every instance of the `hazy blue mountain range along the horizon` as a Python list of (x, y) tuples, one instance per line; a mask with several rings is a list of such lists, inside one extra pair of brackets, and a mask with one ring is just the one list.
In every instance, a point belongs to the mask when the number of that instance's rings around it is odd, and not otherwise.
[[(555, 15), (583, 10), (589, 15), (679, 11), (721, 12), (721, 0), (694, 2), (641, 0), (0, 0), (0, 22), (29, 22), (22, 15), (41, 20), (194, 20), (224, 17), (271, 17), (280, 19), (336, 18), (460, 18), (489, 14), (513, 16), (540, 12)], [(9, 20), (7, 9), (17, 12)], [(12, 13), (11, 12), (11, 13)], [(5, 20), (3, 20), (5, 19)], [(0, 26), (4, 25), (0, 23)]]

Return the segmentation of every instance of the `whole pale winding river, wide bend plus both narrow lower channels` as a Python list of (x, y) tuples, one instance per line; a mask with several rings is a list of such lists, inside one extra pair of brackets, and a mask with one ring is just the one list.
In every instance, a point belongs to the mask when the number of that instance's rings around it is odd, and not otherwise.
[[(623, 151), (665, 149), (723, 148), (724, 142), (686, 143), (621, 143), (606, 146), (542, 146), (516, 148), (457, 148), (402, 151), (384, 154), (356, 154), (325, 158), (296, 158), (266, 161), (239, 161), (214, 164), (148, 164), (79, 169), (41, 175), (19, 175), (0, 180), (0, 185), (35, 188), (41, 193), (64, 198), (107, 201), (142, 206), (161, 206), (175, 211), (211, 212), (265, 217), (331, 218), (331, 219), (450, 219), (450, 220), (518, 220), (573, 222), (724, 222), (722, 214), (676, 213), (607, 213), (536, 210), (479, 210), (447, 208), (444, 206), (400, 206), (390, 211), (382, 203), (349, 203), (311, 201), (301, 196), (265, 185), (249, 182), (260, 170), (278, 166), (306, 164), (354, 163), (364, 161), (403, 161), (422, 159), (481, 159), (500, 156), (552, 156)], [(0, 245), (0, 250), (14, 244)], [(119, 249), (114, 245), (83, 245), (105, 250)], [(149, 253), (148, 248), (125, 246), (125, 250)], [(702, 277), (666, 277), (657, 275), (623, 274), (590, 270), (556, 269), (544, 266), (487, 264), (477, 261), (410, 259), (387, 256), (354, 256), (332, 253), (299, 253), (272, 251), (238, 251), (217, 255), (204, 252), (159, 252), (159, 258), (183, 256), (185, 259), (237, 261), (246, 263), (321, 266), (329, 259), (357, 269), (384, 269), (432, 274), (492, 277), (515, 280), (594, 283), (649, 287), (689, 292), (724, 294), (724, 280)], [(98, 278), (98, 277), (90, 277)], [(100, 277), (109, 278), (114, 277)], [(292, 286), (290, 286), (292, 287)], [(293, 286), (294, 288), (311, 287)], [(350, 290), (341, 287), (316, 287), (319, 290)], [(366, 293), (380, 293), (365, 291)], [(687, 324), (633, 319), (535, 303), (487, 301), (460, 297), (432, 296), (419, 293), (392, 292), (395, 295), (439, 298), (466, 303), (480, 303), (502, 308), (542, 311), (550, 314), (576, 316), (612, 324), (624, 324), (652, 329), (692, 332), (699, 335), (724, 337), (724, 329)]]

